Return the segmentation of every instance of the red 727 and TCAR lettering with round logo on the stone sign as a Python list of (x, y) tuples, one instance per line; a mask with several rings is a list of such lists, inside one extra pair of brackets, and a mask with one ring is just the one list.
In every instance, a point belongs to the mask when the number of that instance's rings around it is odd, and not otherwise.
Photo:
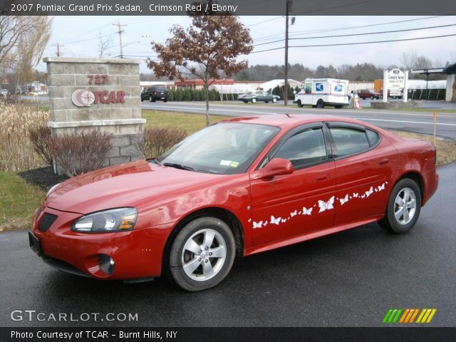
[[(88, 75), (88, 84), (105, 84), (108, 82), (108, 75)], [(124, 103), (125, 91), (90, 91), (86, 89), (74, 90), (71, 94), (71, 101), (78, 107), (90, 107), (92, 103)]]

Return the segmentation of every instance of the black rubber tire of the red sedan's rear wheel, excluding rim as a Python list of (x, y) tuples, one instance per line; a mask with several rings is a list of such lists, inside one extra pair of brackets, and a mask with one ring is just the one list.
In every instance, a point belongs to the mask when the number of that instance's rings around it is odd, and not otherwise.
[[(398, 196), (398, 193), (403, 190), (405, 187), (410, 187), (410, 189), (415, 192), (415, 198), (416, 198), (416, 208), (415, 208), (415, 214), (413, 216), (413, 219), (408, 222), (408, 224), (400, 224), (394, 216), (394, 204), (395, 204), (395, 199)], [(393, 187), (393, 190), (391, 190), (390, 198), (388, 199), (388, 208), (386, 211), (386, 219), (388, 220), (388, 225), (390, 226), (390, 230), (398, 233), (398, 234), (403, 234), (405, 232), (408, 232), (412, 227), (415, 225), (415, 223), (418, 221), (418, 218), (420, 217), (420, 211), (421, 211), (421, 192), (420, 188), (418, 185), (413, 181), (410, 180), (409, 178), (405, 178), (403, 180), (400, 180), (399, 182), (396, 183), (396, 185)]]

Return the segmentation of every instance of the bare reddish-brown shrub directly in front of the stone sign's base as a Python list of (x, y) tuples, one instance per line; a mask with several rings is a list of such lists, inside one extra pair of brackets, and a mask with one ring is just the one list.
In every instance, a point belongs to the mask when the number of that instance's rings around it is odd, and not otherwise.
[(108, 159), (111, 134), (95, 130), (65, 133), (49, 139), (49, 150), (69, 177), (99, 169)]

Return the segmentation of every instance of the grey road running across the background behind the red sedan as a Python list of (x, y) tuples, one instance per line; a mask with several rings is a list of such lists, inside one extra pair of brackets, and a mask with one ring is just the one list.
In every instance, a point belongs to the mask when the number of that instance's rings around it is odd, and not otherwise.
[[(367, 102), (367, 101), (366, 101)], [(206, 113), (204, 103), (192, 102), (143, 102), (142, 108), (155, 110), (184, 111), (187, 113)], [(456, 112), (456, 108), (455, 108)], [(335, 109), (323, 108), (316, 109), (311, 107), (298, 108), (296, 105), (284, 105), (269, 103), (264, 104), (215, 104), (211, 103), (209, 113), (229, 116), (250, 116), (267, 114), (328, 114), (356, 118), (377, 125), (381, 128), (395, 130), (406, 130), (415, 133), (434, 134), (432, 113), (405, 112), (392, 110), (373, 110), (373, 109)], [(437, 135), (443, 138), (456, 140), (456, 113), (438, 113), (437, 115)]]

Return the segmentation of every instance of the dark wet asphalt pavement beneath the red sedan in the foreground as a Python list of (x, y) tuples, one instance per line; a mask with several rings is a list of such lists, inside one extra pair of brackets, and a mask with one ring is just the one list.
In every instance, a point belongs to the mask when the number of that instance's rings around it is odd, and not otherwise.
[[(427, 326), (456, 326), (456, 163), (403, 235), (377, 224), (237, 260), (219, 286), (187, 293), (162, 279), (97, 281), (57, 271), (0, 233), (0, 326), (381, 326), (390, 308), (435, 308)], [(11, 321), (46, 315), (132, 313), (138, 321)]]

